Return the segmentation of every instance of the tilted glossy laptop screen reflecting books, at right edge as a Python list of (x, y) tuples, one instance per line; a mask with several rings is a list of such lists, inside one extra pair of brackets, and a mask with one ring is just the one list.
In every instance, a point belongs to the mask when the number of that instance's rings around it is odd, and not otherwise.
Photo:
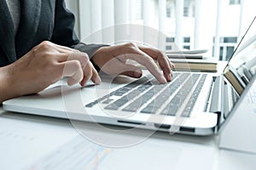
[(237, 94), (241, 95), (255, 74), (256, 16), (224, 69), (224, 77), (235, 88)]

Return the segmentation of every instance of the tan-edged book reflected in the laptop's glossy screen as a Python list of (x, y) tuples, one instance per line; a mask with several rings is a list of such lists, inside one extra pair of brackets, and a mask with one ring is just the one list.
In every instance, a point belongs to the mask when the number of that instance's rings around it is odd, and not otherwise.
[(237, 94), (241, 95), (246, 84), (242, 81), (241, 77), (238, 75), (236, 69), (228, 65), (224, 69), (224, 77), (230, 82), (230, 84), (235, 88)]

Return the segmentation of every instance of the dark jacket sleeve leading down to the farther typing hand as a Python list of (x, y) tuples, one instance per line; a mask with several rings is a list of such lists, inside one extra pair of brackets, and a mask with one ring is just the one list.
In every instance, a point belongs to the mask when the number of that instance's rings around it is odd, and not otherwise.
[(79, 41), (74, 32), (74, 15), (67, 9), (64, 0), (55, 0), (55, 27), (51, 42), (76, 48), (91, 58), (98, 48), (107, 46), (104, 44), (85, 44)]

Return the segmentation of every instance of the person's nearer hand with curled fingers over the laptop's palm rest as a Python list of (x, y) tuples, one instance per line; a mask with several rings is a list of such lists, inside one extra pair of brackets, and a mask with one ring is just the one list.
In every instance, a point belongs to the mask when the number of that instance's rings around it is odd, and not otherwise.
[(52, 42), (40, 43), (6, 69), (9, 90), (15, 90), (12, 97), (36, 94), (62, 77), (68, 77), (68, 85), (101, 82), (87, 54)]

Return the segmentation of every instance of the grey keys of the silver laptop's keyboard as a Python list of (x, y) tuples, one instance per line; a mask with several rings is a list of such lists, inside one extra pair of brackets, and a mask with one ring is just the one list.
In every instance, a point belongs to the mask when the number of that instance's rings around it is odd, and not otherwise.
[(96, 99), (85, 107), (105, 105), (104, 109), (109, 111), (158, 113), (168, 116), (176, 116), (182, 110), (181, 116), (189, 116), (206, 77), (206, 74), (175, 72), (172, 82), (160, 84), (153, 76), (148, 75)]

